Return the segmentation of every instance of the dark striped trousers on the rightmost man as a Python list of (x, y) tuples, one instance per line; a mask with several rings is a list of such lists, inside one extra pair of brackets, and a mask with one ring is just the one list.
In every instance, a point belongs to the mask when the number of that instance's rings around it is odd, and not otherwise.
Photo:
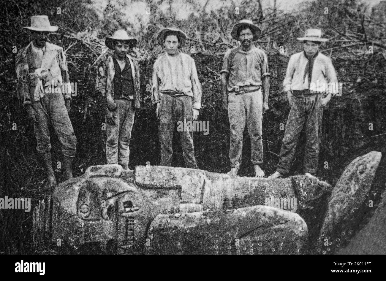
[(305, 173), (315, 174), (318, 170), (319, 156), (319, 128), (322, 124), (322, 96), (306, 95), (293, 96), (291, 110), (288, 115), (286, 130), (281, 146), (279, 164), (276, 169), (281, 174), (288, 174), (292, 160), (295, 155), (295, 148), (300, 133), (306, 124), (306, 147), (304, 158)]

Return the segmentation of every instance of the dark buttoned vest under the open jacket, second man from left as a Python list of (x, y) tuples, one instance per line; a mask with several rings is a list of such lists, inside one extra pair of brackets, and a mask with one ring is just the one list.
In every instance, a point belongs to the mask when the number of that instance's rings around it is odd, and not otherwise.
[(115, 75), (113, 79), (114, 98), (127, 98), (131, 100), (134, 97), (134, 81), (131, 73), (130, 61), (128, 58), (126, 58), (126, 64), (122, 71), (117, 60), (113, 58), (113, 61), (115, 68)]

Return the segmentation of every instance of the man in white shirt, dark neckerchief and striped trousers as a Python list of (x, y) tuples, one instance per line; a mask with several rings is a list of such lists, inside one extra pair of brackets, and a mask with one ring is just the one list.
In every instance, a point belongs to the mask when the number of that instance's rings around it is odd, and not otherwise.
[[(322, 30), (307, 29), (303, 42), (304, 51), (293, 54), (288, 62), (284, 91), (291, 110), (288, 115), (276, 172), (268, 178), (286, 176), (295, 155), (296, 143), (306, 124), (305, 175), (315, 177), (318, 169), (319, 128), (322, 124), (323, 107), (339, 89), (328, 85), (337, 83), (331, 59), (319, 52), (323, 39)], [(335, 88), (335, 89), (334, 89)]]

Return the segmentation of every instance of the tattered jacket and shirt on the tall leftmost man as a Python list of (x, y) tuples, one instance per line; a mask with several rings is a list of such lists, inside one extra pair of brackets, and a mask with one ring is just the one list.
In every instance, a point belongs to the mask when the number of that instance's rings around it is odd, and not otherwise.
[[(24, 106), (39, 101), (47, 92), (48, 85), (69, 83), (66, 55), (62, 47), (47, 42), (40, 66), (34, 65), (31, 48), (32, 42), (20, 49), (15, 59), (16, 91)], [(43, 71), (47, 75), (42, 76)], [(69, 84), (65, 84), (64, 91), (61, 91), (65, 100), (71, 99), (71, 90), (67, 86)]]

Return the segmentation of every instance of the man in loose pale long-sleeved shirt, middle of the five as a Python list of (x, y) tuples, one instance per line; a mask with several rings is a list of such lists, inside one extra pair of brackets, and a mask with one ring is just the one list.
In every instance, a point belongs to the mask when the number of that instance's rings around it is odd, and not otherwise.
[[(157, 41), (164, 52), (153, 67), (152, 99), (157, 103), (156, 115), (161, 120), (161, 166), (171, 166), (172, 140), (176, 122), (197, 120), (201, 108), (201, 84), (198, 81), (195, 61), (179, 51), (186, 41), (186, 34), (175, 28), (164, 28)], [(193, 132), (179, 132), (186, 168), (197, 168), (194, 155)]]

